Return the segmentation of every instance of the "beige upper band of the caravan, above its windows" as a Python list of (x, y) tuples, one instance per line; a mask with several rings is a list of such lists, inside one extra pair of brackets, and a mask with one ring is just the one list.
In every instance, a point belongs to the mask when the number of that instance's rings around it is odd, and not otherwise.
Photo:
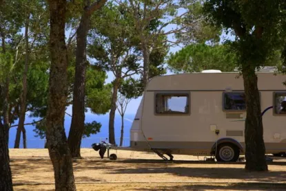
[[(286, 76), (274, 71), (257, 71), (258, 89), (267, 91), (284, 90)], [(146, 91), (242, 91), (243, 76), (238, 72), (188, 73), (156, 76), (150, 80)]]

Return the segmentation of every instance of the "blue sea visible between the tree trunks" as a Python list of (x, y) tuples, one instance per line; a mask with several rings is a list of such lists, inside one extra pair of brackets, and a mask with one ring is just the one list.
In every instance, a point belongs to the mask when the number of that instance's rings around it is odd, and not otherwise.
[[(123, 136), (123, 146), (130, 146), (130, 128), (132, 126), (132, 122), (134, 120), (135, 114), (126, 114), (124, 116), (124, 136)], [(29, 118), (26, 116), (25, 123), (33, 122), (33, 120), (39, 120), (37, 118)], [(81, 141), (81, 148), (91, 148), (93, 143), (99, 143), (101, 141), (105, 141), (106, 138), (109, 137), (108, 134), (108, 123), (109, 123), (109, 113), (105, 115), (94, 115), (92, 113), (85, 114), (85, 122), (92, 121), (101, 123), (101, 131), (95, 135), (91, 135), (90, 137), (83, 138)], [(72, 121), (72, 117), (69, 115), (65, 115), (65, 135), (68, 137), (68, 133), (70, 131), (70, 123)], [(18, 124), (18, 121), (14, 122), (14, 124)], [(40, 137), (35, 137), (36, 133), (33, 131), (34, 126), (27, 125), (25, 126), (26, 135), (27, 135), (27, 147), (28, 148), (44, 148), (45, 139), (41, 139)], [(115, 116), (114, 122), (114, 130), (115, 130), (115, 141), (116, 144), (120, 143), (121, 136), (121, 116)], [(16, 137), (17, 127), (10, 128), (9, 133), (9, 148), (14, 148), (14, 141)], [(21, 137), (20, 148), (23, 148), (23, 139)]]

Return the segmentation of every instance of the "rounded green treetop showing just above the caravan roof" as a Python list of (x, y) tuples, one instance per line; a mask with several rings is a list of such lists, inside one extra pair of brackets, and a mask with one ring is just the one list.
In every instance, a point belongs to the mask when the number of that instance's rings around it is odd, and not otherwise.
[(227, 45), (187, 45), (175, 54), (170, 54), (167, 61), (170, 69), (178, 72), (194, 72), (204, 69), (234, 71), (236, 54), (229, 52)]

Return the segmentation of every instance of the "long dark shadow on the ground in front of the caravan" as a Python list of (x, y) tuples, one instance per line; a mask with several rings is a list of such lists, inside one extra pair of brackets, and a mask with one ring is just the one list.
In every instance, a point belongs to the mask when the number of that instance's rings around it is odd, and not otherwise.
[[(243, 168), (196, 168), (196, 167), (172, 167), (172, 166), (134, 166), (133, 168), (119, 168), (107, 170), (111, 174), (172, 174), (181, 177), (222, 179), (240, 179), (241, 181), (267, 181), (286, 182), (285, 171), (246, 172)], [(285, 187), (286, 190), (286, 187)]]

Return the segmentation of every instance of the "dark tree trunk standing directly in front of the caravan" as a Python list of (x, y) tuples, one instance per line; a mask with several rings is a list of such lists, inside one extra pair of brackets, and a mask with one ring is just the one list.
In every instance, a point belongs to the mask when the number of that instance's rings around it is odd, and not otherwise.
[(252, 67), (243, 67), (243, 81), (247, 116), (245, 120), (245, 159), (246, 170), (268, 170), (263, 141), (263, 122), (257, 76)]

